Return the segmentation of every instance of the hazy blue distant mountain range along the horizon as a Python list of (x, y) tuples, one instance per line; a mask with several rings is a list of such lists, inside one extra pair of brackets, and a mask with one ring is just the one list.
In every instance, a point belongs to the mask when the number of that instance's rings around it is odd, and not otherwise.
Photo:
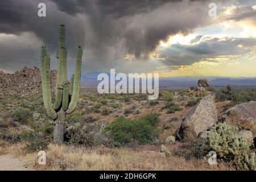
[[(100, 72), (89, 72), (82, 74), (81, 76), (81, 86), (84, 87), (97, 87), (98, 83), (97, 76)], [(110, 76), (110, 73), (107, 73)], [(247, 87), (247, 88), (256, 88), (256, 77), (199, 77), (199, 76), (185, 76), (185, 77), (160, 77), (159, 78), (159, 87), (189, 87), (197, 86), (197, 80), (207, 79), (210, 86), (222, 87), (230, 85), (233, 87)], [(118, 81), (116, 81), (118, 82)]]

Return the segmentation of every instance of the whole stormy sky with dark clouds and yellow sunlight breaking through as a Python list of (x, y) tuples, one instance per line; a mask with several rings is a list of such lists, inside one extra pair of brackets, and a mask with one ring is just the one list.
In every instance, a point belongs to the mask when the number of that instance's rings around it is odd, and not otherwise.
[[(38, 16), (40, 2), (46, 17)], [(214, 17), (209, 3), (217, 5)], [(0, 69), (39, 67), (43, 45), (55, 69), (59, 24), (66, 26), (69, 73), (81, 45), (83, 73), (256, 76), (254, 0), (3, 0)]]

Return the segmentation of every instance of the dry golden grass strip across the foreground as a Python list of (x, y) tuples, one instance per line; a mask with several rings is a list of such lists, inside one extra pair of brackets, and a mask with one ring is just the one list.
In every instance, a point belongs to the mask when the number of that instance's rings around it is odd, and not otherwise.
[[(180, 143), (167, 145), (172, 151)], [(210, 166), (206, 160), (186, 160), (182, 156), (166, 157), (159, 152), (160, 146), (137, 148), (82, 148), (49, 144), (46, 166), (37, 163), (37, 152), (26, 154), (24, 144), (0, 142), (0, 155), (12, 154), (23, 160), (31, 160), (36, 170), (234, 170), (229, 163), (218, 162)]]

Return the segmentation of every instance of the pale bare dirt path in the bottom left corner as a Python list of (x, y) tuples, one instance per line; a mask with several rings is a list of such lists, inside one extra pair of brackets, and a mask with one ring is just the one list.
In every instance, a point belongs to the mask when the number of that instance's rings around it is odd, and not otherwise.
[(28, 171), (32, 170), (31, 162), (25, 162), (12, 155), (0, 156), (0, 171)]

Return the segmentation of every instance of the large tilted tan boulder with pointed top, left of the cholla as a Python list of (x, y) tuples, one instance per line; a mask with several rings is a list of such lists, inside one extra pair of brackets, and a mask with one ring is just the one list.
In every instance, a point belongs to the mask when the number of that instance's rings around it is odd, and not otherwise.
[(182, 140), (194, 140), (199, 133), (213, 126), (217, 121), (214, 96), (204, 97), (185, 115), (178, 132)]

